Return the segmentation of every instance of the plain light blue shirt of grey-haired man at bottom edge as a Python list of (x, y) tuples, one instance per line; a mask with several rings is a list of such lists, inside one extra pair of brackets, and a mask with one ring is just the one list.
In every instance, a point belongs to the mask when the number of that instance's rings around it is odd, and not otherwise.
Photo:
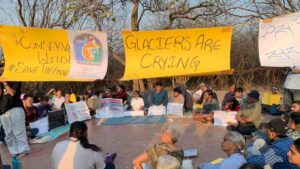
[(199, 167), (201, 169), (239, 169), (245, 163), (247, 163), (245, 157), (240, 153), (235, 153), (223, 160), (221, 164), (203, 163)]

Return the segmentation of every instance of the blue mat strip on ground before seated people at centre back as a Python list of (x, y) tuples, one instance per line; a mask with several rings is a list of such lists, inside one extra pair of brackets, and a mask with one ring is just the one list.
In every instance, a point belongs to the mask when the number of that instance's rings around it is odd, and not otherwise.
[(135, 117), (117, 117), (109, 118), (104, 125), (122, 125), (122, 124), (155, 124), (164, 123), (165, 116), (135, 116)]

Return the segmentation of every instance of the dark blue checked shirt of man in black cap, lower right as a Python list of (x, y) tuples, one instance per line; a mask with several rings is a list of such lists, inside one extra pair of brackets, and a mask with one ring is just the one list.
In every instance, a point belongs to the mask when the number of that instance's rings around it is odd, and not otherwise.
[(275, 164), (280, 163), (281, 167), (285, 166), (286, 169), (297, 169), (298, 167), (296, 165), (291, 164), (288, 161), (287, 153), (292, 144), (293, 140), (291, 138), (281, 138), (272, 142), (271, 147), (265, 153), (248, 157), (247, 162), (260, 166), (270, 164), (271, 166), (274, 166), (273, 169), (276, 169), (277, 165)]

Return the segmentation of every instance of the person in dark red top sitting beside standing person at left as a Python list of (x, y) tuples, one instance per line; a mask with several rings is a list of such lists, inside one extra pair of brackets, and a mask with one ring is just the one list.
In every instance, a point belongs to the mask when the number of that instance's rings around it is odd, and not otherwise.
[(25, 121), (26, 121), (26, 131), (27, 136), (31, 139), (35, 138), (39, 133), (38, 128), (31, 128), (30, 123), (38, 120), (37, 108), (33, 106), (33, 96), (25, 94), (23, 98), (23, 106), (25, 110)]

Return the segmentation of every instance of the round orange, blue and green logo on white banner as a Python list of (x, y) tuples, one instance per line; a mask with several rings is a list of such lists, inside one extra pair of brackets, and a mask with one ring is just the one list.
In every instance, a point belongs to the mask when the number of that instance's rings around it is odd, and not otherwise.
[(100, 64), (102, 61), (101, 42), (91, 34), (80, 34), (75, 37), (76, 60), (80, 64)]

